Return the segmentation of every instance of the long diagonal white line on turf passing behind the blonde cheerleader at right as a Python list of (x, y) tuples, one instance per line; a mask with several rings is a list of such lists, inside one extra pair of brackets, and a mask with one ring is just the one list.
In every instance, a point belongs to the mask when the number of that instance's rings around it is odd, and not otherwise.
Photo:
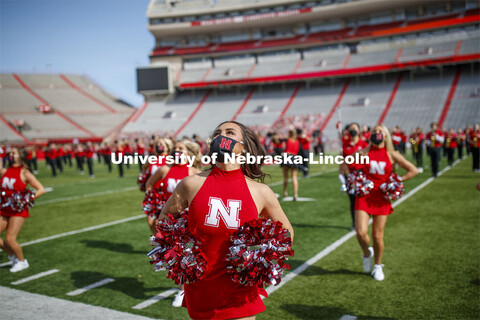
[[(446, 167), (444, 168), (443, 170), (441, 170), (440, 172), (438, 172), (438, 177), (441, 176), (442, 174), (444, 174), (445, 172), (447, 172), (448, 170), (450, 170), (453, 166), (456, 166), (458, 163), (460, 162), (460, 160), (456, 160), (452, 166), (449, 166), (449, 167)], [(414, 188), (412, 191), (410, 191), (409, 193), (407, 193), (405, 196), (403, 196), (402, 198), (398, 199), (398, 201), (395, 201), (395, 203), (393, 203), (393, 207), (395, 208), (396, 206), (400, 205), (403, 201), (407, 200), (408, 198), (410, 198), (411, 196), (413, 196), (415, 193), (417, 193), (418, 191), (420, 191), (421, 189), (425, 188), (428, 184), (430, 184), (432, 181), (434, 181), (435, 179), (430, 177), (428, 178), (427, 180), (425, 180), (423, 183), (421, 183), (420, 185), (418, 185), (416, 188)], [(372, 223), (372, 220), (370, 219), (369, 221), (369, 224)], [(322, 251), (320, 251), (319, 253), (317, 253), (315, 256), (313, 256), (312, 258), (308, 259), (307, 261), (305, 261), (303, 264), (301, 264), (300, 266), (298, 266), (295, 270), (293, 270), (292, 272), (288, 273), (285, 277), (283, 277), (282, 279), (282, 282), (280, 282), (279, 285), (277, 286), (270, 286), (267, 288), (267, 293), (268, 295), (272, 294), (273, 292), (277, 291), (278, 289), (280, 289), (281, 287), (283, 287), (287, 282), (289, 282), (290, 280), (292, 280), (293, 278), (295, 278), (296, 276), (298, 276), (300, 273), (302, 273), (303, 271), (305, 271), (308, 267), (312, 266), (314, 263), (318, 262), (320, 259), (322, 259), (323, 257), (325, 257), (327, 254), (329, 254), (330, 252), (332, 252), (333, 250), (337, 249), (339, 246), (341, 246), (343, 243), (345, 243), (347, 240), (349, 240), (350, 238), (352, 238), (353, 236), (355, 236), (355, 231), (350, 231), (349, 233), (347, 233), (346, 235), (344, 235), (343, 237), (341, 237), (340, 239), (338, 239), (337, 241), (335, 241), (334, 243), (332, 243), (331, 245), (329, 245), (328, 247), (326, 247), (325, 249), (323, 249)]]

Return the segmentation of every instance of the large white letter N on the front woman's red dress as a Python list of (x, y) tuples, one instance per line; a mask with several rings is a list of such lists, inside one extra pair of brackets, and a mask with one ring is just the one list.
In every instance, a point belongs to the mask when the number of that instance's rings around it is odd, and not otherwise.
[(242, 208), (241, 200), (227, 200), (227, 206), (223, 203), (222, 199), (210, 197), (208, 199), (208, 215), (205, 219), (205, 225), (210, 227), (218, 227), (220, 219), (222, 217), (225, 226), (228, 229), (237, 229), (240, 227), (240, 219), (238, 219), (238, 212)]

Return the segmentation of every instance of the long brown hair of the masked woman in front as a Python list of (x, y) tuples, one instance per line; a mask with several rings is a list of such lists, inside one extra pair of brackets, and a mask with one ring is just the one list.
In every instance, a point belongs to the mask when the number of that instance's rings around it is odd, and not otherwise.
[[(251, 154), (256, 159), (258, 159), (258, 156), (262, 156), (262, 158), (265, 158), (267, 153), (265, 152), (265, 149), (260, 143), (260, 140), (258, 140), (258, 136), (255, 134), (255, 132), (253, 132), (250, 128), (248, 128), (244, 124), (241, 124), (240, 122), (237, 122), (237, 121), (224, 121), (220, 123), (217, 126), (217, 128), (224, 123), (234, 123), (237, 126), (239, 126), (240, 129), (242, 129), (243, 148), (245, 149), (246, 153)], [(213, 139), (213, 134), (210, 136), (210, 138)], [(250, 179), (256, 179), (262, 183), (265, 181), (265, 177), (267, 176), (267, 174), (262, 171), (262, 164), (244, 163), (241, 165), (241, 168), (242, 168), (243, 174), (249, 177)]]

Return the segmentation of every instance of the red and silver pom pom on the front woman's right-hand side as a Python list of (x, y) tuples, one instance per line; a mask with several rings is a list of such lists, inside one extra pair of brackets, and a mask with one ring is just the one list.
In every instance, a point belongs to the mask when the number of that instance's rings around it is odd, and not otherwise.
[(279, 221), (265, 218), (248, 221), (231, 235), (230, 241), (227, 269), (237, 283), (258, 287), (278, 285), (284, 271), (290, 269), (285, 261), (294, 254), (292, 238)]

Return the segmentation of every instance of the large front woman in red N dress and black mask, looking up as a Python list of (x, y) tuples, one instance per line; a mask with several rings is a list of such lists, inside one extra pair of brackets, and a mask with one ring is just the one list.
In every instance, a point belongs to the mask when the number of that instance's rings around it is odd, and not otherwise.
[(256, 135), (244, 125), (227, 121), (214, 131), (210, 153), (217, 153), (211, 170), (183, 179), (167, 201), (160, 219), (189, 208), (193, 235), (205, 238), (207, 269), (204, 277), (185, 285), (183, 306), (192, 319), (254, 319), (265, 310), (259, 294), (265, 290), (233, 282), (225, 255), (230, 235), (260, 216), (282, 222), (293, 238), (293, 229), (273, 191), (263, 183), (261, 164), (224, 163), (229, 154), (265, 155)]

